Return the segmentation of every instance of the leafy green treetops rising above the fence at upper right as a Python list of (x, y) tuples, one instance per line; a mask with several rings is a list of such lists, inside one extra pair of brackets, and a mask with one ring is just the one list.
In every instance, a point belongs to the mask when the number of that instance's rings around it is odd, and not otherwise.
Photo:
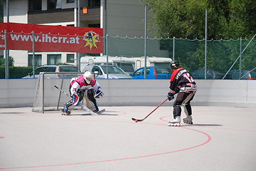
[(163, 38), (252, 38), (256, 33), (255, 0), (145, 0), (153, 12), (150, 31)]

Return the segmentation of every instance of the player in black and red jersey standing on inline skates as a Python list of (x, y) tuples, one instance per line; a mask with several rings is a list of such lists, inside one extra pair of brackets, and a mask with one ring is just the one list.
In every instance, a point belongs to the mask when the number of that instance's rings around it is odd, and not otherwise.
[(190, 101), (193, 100), (197, 90), (196, 83), (193, 76), (185, 68), (180, 68), (178, 61), (170, 62), (170, 69), (173, 71), (170, 77), (170, 91), (168, 92), (168, 99), (173, 100), (174, 95), (177, 98), (173, 103), (173, 118), (168, 125), (180, 126), (181, 105), (184, 106), (184, 112), (187, 116), (183, 119), (183, 123), (193, 124), (192, 108)]

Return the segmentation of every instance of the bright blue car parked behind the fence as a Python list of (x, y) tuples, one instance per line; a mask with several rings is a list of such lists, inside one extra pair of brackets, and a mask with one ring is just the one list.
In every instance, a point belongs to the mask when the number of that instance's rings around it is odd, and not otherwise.
[[(145, 67), (138, 68), (130, 74), (135, 79), (144, 79)], [(146, 79), (170, 79), (171, 71), (168, 67), (148, 66), (146, 68)]]

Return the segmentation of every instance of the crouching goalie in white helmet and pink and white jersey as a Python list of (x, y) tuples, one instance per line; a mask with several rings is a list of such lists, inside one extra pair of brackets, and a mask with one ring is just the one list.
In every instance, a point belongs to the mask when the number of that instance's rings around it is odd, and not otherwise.
[[(86, 71), (83, 76), (78, 78), (72, 78), (69, 85), (69, 93), (72, 99), (64, 105), (62, 115), (70, 115), (71, 110), (77, 105), (80, 105), (83, 110), (87, 110), (91, 115), (97, 115), (98, 105), (96, 98), (103, 96), (101, 86), (93, 79), (93, 74)], [(86, 105), (83, 104), (83, 98), (86, 101)]]

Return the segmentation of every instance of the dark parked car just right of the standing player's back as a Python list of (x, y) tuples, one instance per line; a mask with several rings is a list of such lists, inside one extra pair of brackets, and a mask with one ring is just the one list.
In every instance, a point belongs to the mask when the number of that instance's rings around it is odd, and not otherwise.
[[(206, 78), (207, 79), (222, 79), (225, 76), (225, 71), (218, 70), (218, 69), (207, 69), (206, 70)], [(194, 71), (192, 73), (194, 79), (205, 79), (205, 69), (200, 69)], [(232, 79), (232, 76), (227, 73), (224, 79)]]

